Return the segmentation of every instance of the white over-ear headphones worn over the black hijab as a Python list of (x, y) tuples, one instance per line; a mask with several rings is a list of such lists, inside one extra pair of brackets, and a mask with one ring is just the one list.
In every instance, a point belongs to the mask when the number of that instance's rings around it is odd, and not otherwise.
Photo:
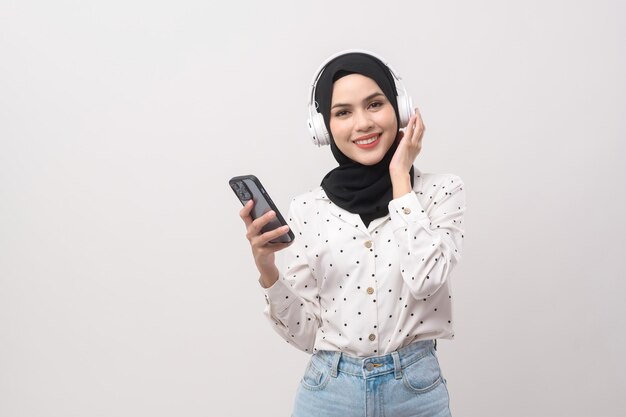
[(387, 66), (387, 68), (391, 72), (391, 75), (393, 75), (396, 83), (396, 90), (398, 91), (398, 114), (400, 116), (399, 128), (406, 127), (409, 124), (409, 119), (411, 118), (411, 116), (415, 114), (415, 109), (413, 108), (413, 100), (407, 94), (406, 89), (404, 88), (404, 84), (402, 83), (402, 78), (400, 78), (400, 76), (396, 74), (396, 72), (383, 58), (363, 49), (348, 49), (345, 51), (341, 51), (330, 56), (322, 63), (322, 65), (320, 65), (318, 70), (315, 72), (313, 82), (311, 83), (311, 87), (309, 89), (309, 118), (307, 120), (307, 124), (309, 126), (309, 133), (311, 134), (313, 143), (317, 146), (330, 145), (330, 134), (328, 133), (328, 129), (326, 128), (326, 124), (324, 123), (324, 117), (321, 113), (317, 111), (318, 105), (315, 102), (315, 88), (317, 86), (317, 82), (322, 76), (326, 65), (328, 65), (330, 61), (341, 55), (351, 53), (362, 53), (377, 58)]

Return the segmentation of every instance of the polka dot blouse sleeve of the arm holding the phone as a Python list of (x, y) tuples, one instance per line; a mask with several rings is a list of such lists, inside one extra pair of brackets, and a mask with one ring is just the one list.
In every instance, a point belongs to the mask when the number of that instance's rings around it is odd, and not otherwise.
[(281, 269), (278, 280), (265, 293), (264, 315), (274, 330), (296, 348), (313, 352), (315, 336), (320, 325), (320, 303), (317, 279), (307, 262), (301, 225), (294, 210), (289, 208), (289, 227), (296, 236), (293, 244), (279, 252)]

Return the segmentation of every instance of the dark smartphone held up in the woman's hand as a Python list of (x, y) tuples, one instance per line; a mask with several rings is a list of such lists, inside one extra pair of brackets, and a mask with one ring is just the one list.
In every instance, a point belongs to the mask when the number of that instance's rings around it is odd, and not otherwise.
[[(270, 198), (265, 188), (261, 185), (261, 181), (254, 175), (241, 175), (239, 177), (233, 177), (228, 181), (230, 188), (233, 189), (239, 201), (244, 206), (249, 200), (254, 201), (254, 206), (250, 212), (250, 216), (253, 219), (257, 219), (267, 213), (270, 210), (274, 210), (276, 217), (272, 219), (268, 224), (261, 229), (262, 233), (269, 232), (280, 226), (287, 225), (287, 222), (283, 218), (280, 211), (276, 208), (276, 205)], [(271, 243), (289, 243), (295, 239), (295, 236), (291, 229), (282, 236), (277, 237), (274, 240), (270, 240)]]

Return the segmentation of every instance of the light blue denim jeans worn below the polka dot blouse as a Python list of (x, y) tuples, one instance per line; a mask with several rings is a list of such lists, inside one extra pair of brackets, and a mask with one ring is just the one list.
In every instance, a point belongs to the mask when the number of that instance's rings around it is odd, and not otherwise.
[(311, 356), (292, 417), (450, 417), (433, 340), (384, 356), (320, 350)]

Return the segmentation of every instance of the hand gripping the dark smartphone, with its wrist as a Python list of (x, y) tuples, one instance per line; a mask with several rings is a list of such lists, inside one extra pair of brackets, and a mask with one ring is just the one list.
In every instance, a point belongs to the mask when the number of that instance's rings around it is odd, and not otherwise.
[(254, 263), (261, 273), (261, 282), (265, 287), (270, 287), (278, 279), (278, 268), (276, 268), (274, 253), (291, 245), (289, 243), (270, 243), (289, 231), (289, 226), (281, 226), (269, 232), (261, 233), (261, 229), (268, 224), (276, 213), (271, 210), (257, 218), (252, 219), (250, 211), (254, 206), (254, 201), (249, 200), (239, 212), (239, 216), (246, 224), (246, 238), (250, 241)]

